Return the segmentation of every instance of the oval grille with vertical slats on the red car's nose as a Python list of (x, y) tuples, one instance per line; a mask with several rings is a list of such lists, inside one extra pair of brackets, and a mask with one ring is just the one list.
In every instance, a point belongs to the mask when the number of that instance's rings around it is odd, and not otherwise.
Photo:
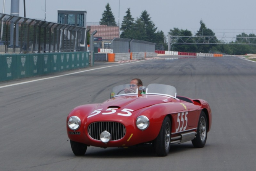
[(110, 133), (111, 141), (121, 139), (126, 133), (125, 126), (118, 122), (94, 122), (88, 127), (90, 137), (96, 140), (100, 140), (100, 133), (103, 131)]

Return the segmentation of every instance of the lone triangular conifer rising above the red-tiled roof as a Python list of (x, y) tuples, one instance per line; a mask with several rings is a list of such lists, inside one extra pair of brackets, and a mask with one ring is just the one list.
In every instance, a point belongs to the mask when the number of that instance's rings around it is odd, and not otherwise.
[(117, 26), (115, 22), (115, 17), (111, 11), (109, 3), (105, 6), (106, 10), (102, 13), (102, 18), (100, 19), (100, 25), (105, 26)]

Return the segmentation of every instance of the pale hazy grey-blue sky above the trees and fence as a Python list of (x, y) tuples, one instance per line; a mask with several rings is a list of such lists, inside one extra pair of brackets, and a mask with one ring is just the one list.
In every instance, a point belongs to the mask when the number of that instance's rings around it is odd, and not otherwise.
[[(134, 19), (146, 10), (151, 21), (165, 35), (170, 29), (188, 29), (192, 33), (200, 27), (200, 20), (215, 34), (233, 36), (241, 32), (256, 34), (256, 0), (46, 0), (46, 20), (57, 22), (57, 10), (86, 10), (87, 22), (99, 22), (109, 2), (120, 25), (128, 8)], [(19, 16), (24, 16), (23, 0), (19, 2)], [(5, 13), (10, 14), (11, 0), (6, 0)], [(0, 0), (0, 13), (3, 0)], [(26, 17), (44, 19), (45, 0), (26, 0)], [(224, 30), (225, 29), (225, 30)]]

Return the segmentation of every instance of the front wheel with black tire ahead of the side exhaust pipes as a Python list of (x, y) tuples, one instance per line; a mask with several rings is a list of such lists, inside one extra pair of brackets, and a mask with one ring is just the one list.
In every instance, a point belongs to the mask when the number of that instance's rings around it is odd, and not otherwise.
[(165, 117), (160, 129), (160, 133), (153, 142), (153, 148), (160, 157), (167, 156), (170, 151), (171, 121)]

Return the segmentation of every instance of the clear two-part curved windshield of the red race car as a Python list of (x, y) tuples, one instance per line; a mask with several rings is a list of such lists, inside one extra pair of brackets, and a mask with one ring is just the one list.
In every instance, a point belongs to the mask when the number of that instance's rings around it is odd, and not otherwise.
[(149, 84), (148, 86), (137, 87), (137, 85), (118, 85), (113, 87), (110, 98), (123, 95), (151, 94), (176, 98), (176, 88), (164, 84)]

